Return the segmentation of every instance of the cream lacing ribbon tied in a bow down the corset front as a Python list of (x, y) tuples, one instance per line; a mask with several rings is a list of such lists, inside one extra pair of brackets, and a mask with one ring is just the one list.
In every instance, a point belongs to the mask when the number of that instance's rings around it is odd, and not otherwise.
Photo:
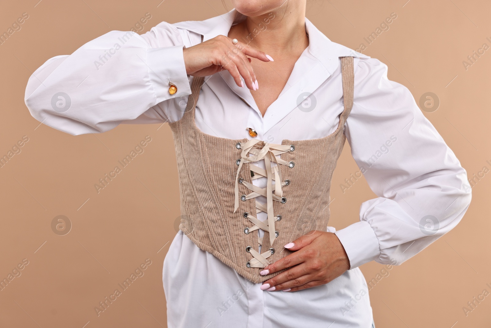
[[(250, 233), (250, 232), (258, 230), (258, 229), (262, 229), (265, 232), (268, 232), (269, 236), (270, 236), (270, 245), (273, 246), (273, 241), (276, 238), (275, 230), (274, 230), (274, 221), (276, 221), (276, 217), (274, 216), (274, 213), (273, 213), (273, 200), (278, 201), (278, 202), (282, 201), (283, 191), (282, 191), (281, 187), (286, 185), (286, 182), (281, 181), (281, 173), (280, 173), (279, 168), (278, 168), (279, 165), (272, 167), (272, 163), (275, 162), (277, 164), (290, 166), (291, 162), (287, 162), (287, 161), (279, 158), (279, 155), (282, 153), (285, 153), (287, 151), (292, 151), (293, 148), (291, 145), (270, 144), (268, 142), (264, 142), (264, 141), (257, 140), (257, 139), (251, 139), (245, 143), (240, 143), (240, 146), (242, 149), (242, 153), (241, 153), (239, 168), (237, 169), (237, 176), (235, 178), (235, 208), (234, 208), (234, 213), (239, 208), (239, 184), (238, 183), (244, 184), (248, 189), (250, 189), (252, 191), (248, 195), (245, 195), (245, 198), (242, 197), (244, 200), (255, 198), (255, 197), (261, 196), (261, 195), (265, 196), (267, 199), (266, 204), (259, 204), (258, 202), (256, 202), (256, 213), (259, 213), (261, 211), (267, 212), (268, 213), (268, 220), (267, 220), (268, 222), (264, 223), (264, 222), (260, 221), (259, 219), (257, 219), (256, 217), (252, 216), (250, 213), (247, 213), (247, 216), (246, 216), (247, 219), (249, 219), (249, 221), (254, 224), (253, 227), (248, 229), (248, 232)], [(249, 153), (251, 154), (251, 156), (247, 155)], [(276, 156), (278, 156), (278, 157), (276, 157)], [(258, 186), (255, 186), (252, 183), (247, 182), (245, 179), (239, 177), (242, 165), (244, 163), (257, 162), (261, 159), (264, 159), (266, 170), (261, 169), (258, 166), (253, 165), (253, 164), (250, 165), (250, 170), (254, 173), (254, 176), (252, 177), (252, 179), (258, 179), (261, 177), (266, 177), (268, 179), (266, 188), (259, 188)], [(246, 174), (249, 174), (249, 172), (247, 172)], [(274, 177), (273, 177), (273, 175), (274, 175)], [(241, 182), (239, 182), (239, 179), (241, 179)], [(275, 183), (274, 183), (274, 194), (273, 194), (272, 180), (275, 181)], [(262, 245), (262, 238), (258, 239), (258, 243), (259, 243), (259, 245)], [(248, 251), (254, 257), (252, 260), (249, 261), (250, 267), (252, 267), (252, 268), (264, 268), (270, 264), (270, 262), (267, 260), (267, 258), (273, 254), (273, 251), (268, 249), (267, 251), (260, 254), (258, 251), (256, 251), (252, 247), (248, 247)]]

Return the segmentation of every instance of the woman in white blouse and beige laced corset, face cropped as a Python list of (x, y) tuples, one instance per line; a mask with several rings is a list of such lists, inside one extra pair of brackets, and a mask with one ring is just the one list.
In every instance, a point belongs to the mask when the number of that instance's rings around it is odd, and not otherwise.
[[(48, 60), (27, 107), (72, 135), (169, 122), (184, 233), (164, 260), (168, 327), (375, 327), (358, 267), (399, 265), (452, 229), (466, 172), (387, 66), (331, 42), (305, 0), (232, 2)], [(345, 138), (379, 197), (335, 231)]]

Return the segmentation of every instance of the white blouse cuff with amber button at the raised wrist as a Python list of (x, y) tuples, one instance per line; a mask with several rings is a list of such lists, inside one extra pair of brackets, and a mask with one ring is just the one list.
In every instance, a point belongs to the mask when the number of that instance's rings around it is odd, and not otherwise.
[[(157, 103), (191, 94), (182, 45), (148, 49), (147, 65)], [(169, 81), (177, 88), (174, 94), (169, 93)]]

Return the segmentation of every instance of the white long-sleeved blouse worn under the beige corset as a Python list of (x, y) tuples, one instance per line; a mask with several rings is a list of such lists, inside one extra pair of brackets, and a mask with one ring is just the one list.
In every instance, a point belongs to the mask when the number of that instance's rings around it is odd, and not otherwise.
[[(27, 84), (27, 107), (35, 119), (72, 135), (176, 121), (191, 94), (183, 46), (199, 43), (201, 34), (204, 41), (227, 35), (244, 19), (232, 9), (205, 21), (162, 22), (143, 35), (110, 31), (39, 67)], [(343, 111), (339, 57), (355, 56), (354, 105), (343, 128), (378, 197), (361, 204), (359, 222), (335, 232), (351, 269), (326, 285), (266, 292), (179, 233), (164, 260), (169, 328), (369, 328), (372, 309), (358, 267), (403, 263), (455, 227), (469, 206), (465, 170), (410, 91), (387, 79), (387, 65), (330, 41), (308, 19), (305, 29), (309, 45), (264, 118), (251, 91), (222, 71), (205, 78), (195, 120), (203, 132), (229, 139), (251, 139), (247, 127), (270, 143), (325, 137)], [(254, 184), (264, 188), (265, 178)], [(264, 196), (256, 201), (266, 203)]]

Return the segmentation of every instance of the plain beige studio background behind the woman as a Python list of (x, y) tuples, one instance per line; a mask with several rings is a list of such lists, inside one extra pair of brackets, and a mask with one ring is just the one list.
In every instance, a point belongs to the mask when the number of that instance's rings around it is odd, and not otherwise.
[[(71, 136), (33, 119), (25, 104), (28, 77), (56, 55), (71, 54), (109, 30), (130, 30), (149, 12), (148, 31), (161, 21), (203, 20), (225, 13), (219, 0), (3, 1), (0, 32), (29, 18), (0, 45), (0, 155), (23, 136), (21, 152), (0, 168), (0, 278), (23, 259), (28, 265), (0, 291), (0, 327), (166, 327), (162, 265), (176, 234), (179, 191), (168, 126), (120, 125), (104, 134)], [(491, 168), (489, 90), (491, 50), (465, 70), (463, 60), (491, 46), (491, 4), (485, 0), (308, 1), (306, 16), (331, 40), (357, 49), (392, 12), (389, 30), (365, 54), (388, 65), (388, 77), (416, 101), (434, 92), (439, 108), (425, 116), (467, 170)], [(165, 60), (165, 59), (163, 59)], [(94, 183), (149, 135), (152, 141), (117, 178)], [(330, 225), (358, 220), (361, 202), (375, 195), (364, 179), (344, 194), (339, 184), (358, 168), (348, 143), (332, 181)], [(491, 296), (467, 316), (463, 307), (491, 292), (490, 187), (487, 173), (472, 190), (463, 221), (370, 291), (377, 328), (490, 327)], [(57, 215), (72, 223), (65, 236)], [(98, 317), (94, 307), (145, 259), (144, 275)], [(367, 281), (384, 267), (361, 267)], [(85, 326), (84, 326), (85, 325)]]

